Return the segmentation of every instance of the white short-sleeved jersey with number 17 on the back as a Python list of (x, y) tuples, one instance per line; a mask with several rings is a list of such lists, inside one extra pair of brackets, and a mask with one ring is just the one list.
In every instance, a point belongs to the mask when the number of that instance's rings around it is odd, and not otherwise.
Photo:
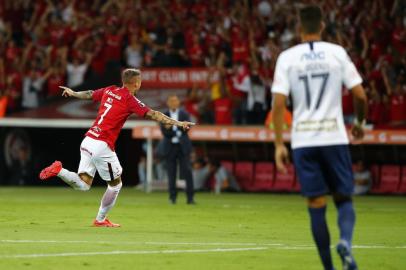
[(361, 83), (341, 46), (316, 41), (283, 51), (276, 63), (272, 92), (292, 96), (292, 148), (348, 144), (342, 89)]

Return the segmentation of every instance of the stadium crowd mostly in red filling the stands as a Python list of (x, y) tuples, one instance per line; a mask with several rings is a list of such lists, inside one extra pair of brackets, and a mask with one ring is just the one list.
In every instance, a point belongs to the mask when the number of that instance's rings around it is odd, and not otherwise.
[[(368, 121), (404, 126), (405, 2), (321, 3), (325, 40), (344, 46), (364, 78)], [(262, 124), (276, 58), (298, 42), (298, 5), (291, 0), (3, 0), (0, 108), (5, 100), (7, 113), (36, 108), (58, 96), (59, 85), (81, 89), (85, 81), (124, 66), (206, 66), (218, 70), (220, 80), (209, 81), (209, 89), (190, 89), (185, 108), (200, 122)], [(348, 91), (343, 108), (351, 123)]]

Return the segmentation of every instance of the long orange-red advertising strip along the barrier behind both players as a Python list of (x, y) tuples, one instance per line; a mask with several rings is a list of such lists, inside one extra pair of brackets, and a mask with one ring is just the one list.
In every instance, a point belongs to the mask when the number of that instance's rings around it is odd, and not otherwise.
[[(189, 137), (195, 141), (229, 141), (229, 142), (272, 142), (275, 134), (272, 130), (263, 127), (236, 127), (236, 126), (195, 126), (189, 131)], [(158, 126), (136, 126), (133, 129), (133, 138), (161, 139), (162, 134)], [(290, 140), (290, 132), (285, 131), (283, 138)], [(406, 144), (405, 130), (371, 130), (365, 132), (362, 141), (353, 142), (362, 144)]]

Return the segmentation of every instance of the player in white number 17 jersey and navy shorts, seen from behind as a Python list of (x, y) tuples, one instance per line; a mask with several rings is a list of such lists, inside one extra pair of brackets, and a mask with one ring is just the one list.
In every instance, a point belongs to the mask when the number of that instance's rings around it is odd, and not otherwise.
[(325, 213), (326, 195), (333, 195), (338, 211), (340, 242), (337, 251), (344, 269), (357, 269), (351, 253), (355, 224), (353, 177), (349, 140), (343, 121), (342, 87), (354, 97), (355, 139), (364, 135), (367, 99), (362, 79), (341, 46), (322, 42), (322, 12), (310, 5), (300, 10), (302, 43), (282, 52), (277, 60), (273, 92), (275, 161), (286, 171), (288, 151), (282, 140), (283, 112), (289, 95), (293, 101), (291, 145), (302, 194), (307, 197), (311, 230), (324, 269), (334, 269)]

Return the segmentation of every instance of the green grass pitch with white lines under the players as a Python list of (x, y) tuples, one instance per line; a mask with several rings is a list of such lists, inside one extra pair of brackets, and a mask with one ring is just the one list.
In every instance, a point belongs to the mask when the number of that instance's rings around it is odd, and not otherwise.
[[(198, 193), (198, 205), (123, 189), (90, 226), (104, 189), (0, 188), (0, 269), (322, 269), (299, 195)], [(406, 198), (358, 197), (360, 269), (406, 269)], [(332, 244), (338, 239), (330, 203)], [(336, 269), (341, 269), (334, 249)]]

